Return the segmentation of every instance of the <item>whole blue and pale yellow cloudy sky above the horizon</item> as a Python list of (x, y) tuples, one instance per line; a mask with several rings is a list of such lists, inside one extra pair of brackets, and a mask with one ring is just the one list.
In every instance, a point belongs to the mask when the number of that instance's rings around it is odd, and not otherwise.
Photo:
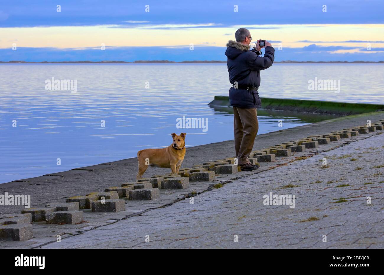
[(0, 61), (226, 61), (241, 27), (275, 61), (384, 61), (383, 14), (382, 0), (0, 0)]

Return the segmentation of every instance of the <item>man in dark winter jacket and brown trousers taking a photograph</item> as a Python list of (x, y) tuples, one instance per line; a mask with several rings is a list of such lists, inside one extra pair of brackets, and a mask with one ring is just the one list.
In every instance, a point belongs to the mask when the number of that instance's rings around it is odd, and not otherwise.
[[(260, 47), (260, 40), (257, 40), (256, 51), (250, 51), (252, 37), (245, 28), (238, 29), (235, 38), (236, 41), (228, 41), (225, 51), (229, 81), (232, 84), (229, 89), (229, 103), (233, 106), (234, 113), (235, 151), (240, 169), (252, 171), (258, 168), (258, 165), (250, 163), (249, 155), (259, 129), (257, 108), (261, 107), (262, 102), (257, 89), (260, 86), (260, 71), (272, 66), (275, 49), (268, 41), (265, 41), (265, 46)], [(262, 57), (260, 49), (264, 47), (265, 53)]]

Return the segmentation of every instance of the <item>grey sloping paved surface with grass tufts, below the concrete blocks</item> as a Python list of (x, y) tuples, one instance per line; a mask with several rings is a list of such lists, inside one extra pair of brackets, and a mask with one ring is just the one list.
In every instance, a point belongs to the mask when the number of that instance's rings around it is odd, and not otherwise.
[[(384, 248), (383, 149), (384, 134), (356, 138), (42, 247)], [(271, 192), (295, 207), (265, 205)]]

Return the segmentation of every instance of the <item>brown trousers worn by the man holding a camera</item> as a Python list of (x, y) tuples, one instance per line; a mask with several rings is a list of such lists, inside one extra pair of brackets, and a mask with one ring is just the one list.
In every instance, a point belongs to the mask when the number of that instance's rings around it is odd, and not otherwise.
[(235, 151), (238, 165), (249, 161), (253, 143), (259, 130), (257, 109), (238, 108), (233, 106), (233, 130), (235, 133)]

